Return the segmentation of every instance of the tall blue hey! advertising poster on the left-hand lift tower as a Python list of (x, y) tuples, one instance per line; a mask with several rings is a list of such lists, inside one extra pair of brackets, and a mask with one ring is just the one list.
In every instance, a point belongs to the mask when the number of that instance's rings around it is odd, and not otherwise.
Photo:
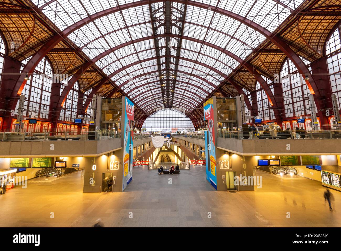
[(124, 98), (124, 127), (123, 127), (123, 184), (122, 191), (133, 179), (133, 132), (130, 130), (134, 121), (134, 104), (127, 97)]

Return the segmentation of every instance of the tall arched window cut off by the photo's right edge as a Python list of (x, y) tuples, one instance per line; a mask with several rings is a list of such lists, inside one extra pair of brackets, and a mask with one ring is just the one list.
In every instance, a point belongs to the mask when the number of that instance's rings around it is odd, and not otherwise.
[[(341, 34), (340, 26), (331, 34), (326, 44), (327, 67), (330, 79), (331, 93), (336, 95), (341, 109)], [(339, 50), (337, 53), (336, 51)]]

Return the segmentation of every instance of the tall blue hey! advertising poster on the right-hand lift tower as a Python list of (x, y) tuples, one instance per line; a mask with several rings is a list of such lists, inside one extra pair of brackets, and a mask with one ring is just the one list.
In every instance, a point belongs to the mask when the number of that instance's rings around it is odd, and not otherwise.
[(213, 98), (204, 103), (204, 120), (208, 130), (205, 131), (206, 179), (217, 190), (216, 145), (214, 138)]

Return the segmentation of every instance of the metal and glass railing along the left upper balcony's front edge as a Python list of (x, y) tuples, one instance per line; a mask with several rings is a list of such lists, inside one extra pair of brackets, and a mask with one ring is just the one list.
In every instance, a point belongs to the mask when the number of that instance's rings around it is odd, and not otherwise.
[(69, 141), (121, 138), (121, 133), (110, 130), (94, 132), (0, 132), (0, 141)]

